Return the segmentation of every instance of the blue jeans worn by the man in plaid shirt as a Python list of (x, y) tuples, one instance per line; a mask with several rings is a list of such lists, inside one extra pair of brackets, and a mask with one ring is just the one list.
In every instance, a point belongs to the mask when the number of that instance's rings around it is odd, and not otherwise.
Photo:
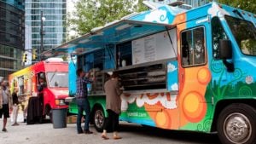
[(89, 130), (89, 123), (90, 123), (90, 103), (88, 99), (77, 99), (77, 105), (79, 108), (79, 114), (77, 118), (77, 130), (78, 133), (82, 132), (81, 127), (81, 119), (83, 117), (83, 112), (85, 112), (85, 122), (84, 122), (84, 131)]

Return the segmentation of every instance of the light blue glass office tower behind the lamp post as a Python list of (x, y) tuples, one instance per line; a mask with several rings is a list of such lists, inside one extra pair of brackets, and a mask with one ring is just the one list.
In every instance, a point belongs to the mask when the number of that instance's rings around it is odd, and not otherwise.
[[(67, 0), (26, 0), (26, 31), (31, 32), (32, 48), (40, 49), (41, 11), (43, 11), (44, 50), (65, 42), (67, 35)], [(30, 45), (30, 44), (27, 44)]]

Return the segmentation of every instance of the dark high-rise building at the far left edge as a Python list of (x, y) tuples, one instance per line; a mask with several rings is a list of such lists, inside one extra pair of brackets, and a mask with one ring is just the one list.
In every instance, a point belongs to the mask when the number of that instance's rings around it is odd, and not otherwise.
[(25, 49), (24, 0), (0, 0), (0, 77), (21, 68)]

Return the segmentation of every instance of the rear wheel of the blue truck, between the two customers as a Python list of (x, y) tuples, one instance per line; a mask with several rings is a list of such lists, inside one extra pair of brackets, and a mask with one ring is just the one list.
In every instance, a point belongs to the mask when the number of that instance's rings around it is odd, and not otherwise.
[(94, 111), (94, 121), (93, 122), (94, 122), (95, 129), (98, 132), (102, 132), (103, 126), (106, 123), (106, 118), (104, 116), (102, 107), (96, 107), (96, 109)]

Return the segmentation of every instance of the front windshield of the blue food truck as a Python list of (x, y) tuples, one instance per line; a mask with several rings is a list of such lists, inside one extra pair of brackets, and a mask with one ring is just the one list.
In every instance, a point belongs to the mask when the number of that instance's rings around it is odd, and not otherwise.
[(256, 28), (247, 20), (225, 16), (241, 52), (245, 55), (256, 55)]

